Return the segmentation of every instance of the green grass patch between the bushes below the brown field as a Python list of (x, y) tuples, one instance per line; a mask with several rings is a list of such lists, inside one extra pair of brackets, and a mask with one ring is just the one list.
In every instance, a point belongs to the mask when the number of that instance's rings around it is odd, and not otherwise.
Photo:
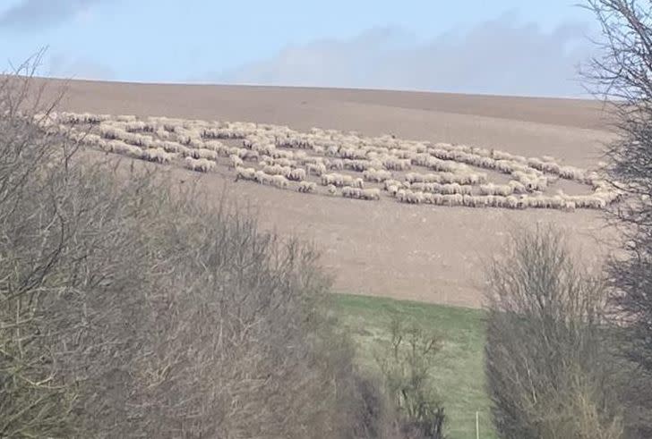
[(483, 311), (411, 301), (335, 294), (343, 325), (356, 342), (361, 367), (377, 373), (373, 354), (390, 336), (393, 316), (414, 322), (442, 339), (433, 356), (433, 384), (448, 417), (450, 439), (476, 438), (476, 411), (481, 438), (494, 438), (485, 393)]

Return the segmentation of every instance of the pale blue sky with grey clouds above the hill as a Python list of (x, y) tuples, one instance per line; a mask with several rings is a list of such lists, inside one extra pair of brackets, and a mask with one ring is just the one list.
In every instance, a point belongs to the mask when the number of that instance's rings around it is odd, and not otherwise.
[(2, 0), (0, 71), (585, 97), (582, 0)]

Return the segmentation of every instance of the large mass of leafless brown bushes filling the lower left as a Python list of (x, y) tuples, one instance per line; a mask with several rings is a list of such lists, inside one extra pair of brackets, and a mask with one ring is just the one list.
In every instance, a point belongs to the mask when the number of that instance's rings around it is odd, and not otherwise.
[(0, 436), (368, 437), (313, 249), (76, 153), (3, 81)]

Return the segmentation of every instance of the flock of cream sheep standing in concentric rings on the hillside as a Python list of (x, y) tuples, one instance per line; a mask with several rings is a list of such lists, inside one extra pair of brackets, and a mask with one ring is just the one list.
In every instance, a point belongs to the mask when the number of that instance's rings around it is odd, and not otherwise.
[[(41, 117), (41, 116), (37, 116)], [(365, 137), (356, 132), (298, 132), (251, 122), (205, 122), (133, 115), (49, 114), (44, 123), (103, 151), (209, 173), (232, 168), (236, 180), (285, 190), (436, 206), (604, 208), (620, 197), (596, 172), (551, 156), (525, 157), (487, 148)], [(487, 172), (506, 183), (488, 181)], [(568, 195), (554, 182), (588, 187)]]

